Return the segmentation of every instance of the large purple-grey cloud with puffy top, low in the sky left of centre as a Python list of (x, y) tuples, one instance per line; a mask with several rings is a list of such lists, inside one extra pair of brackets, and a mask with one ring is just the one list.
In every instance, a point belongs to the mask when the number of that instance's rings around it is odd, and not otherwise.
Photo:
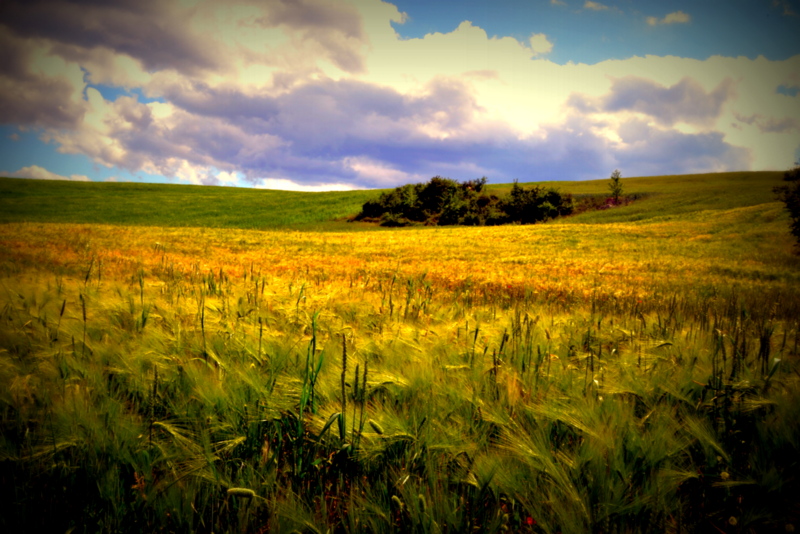
[[(478, 158), (513, 138), (491, 121), (479, 135), (466, 135), (463, 130), (482, 110), (468, 86), (446, 79), (413, 97), (352, 80), (310, 83), (276, 97), (203, 84), (176, 84), (163, 94), (178, 109), (162, 121), (154, 120), (150, 108), (136, 98), (113, 103), (116, 120), (109, 123), (114, 131), (108, 135), (123, 149), (121, 159), (98, 143), (86, 143), (83, 150), (130, 169), (150, 161), (167, 175), (178, 171), (176, 160), (184, 160), (240, 170), (252, 180), (343, 177), (375, 186), (383, 184), (359, 174), (348, 165), (350, 158), (370, 158), (409, 174), (436, 174), (442, 167), (474, 167)], [(431, 139), (420, 131), (426, 122), (452, 137)], [(510, 154), (503, 159), (514, 160)]]

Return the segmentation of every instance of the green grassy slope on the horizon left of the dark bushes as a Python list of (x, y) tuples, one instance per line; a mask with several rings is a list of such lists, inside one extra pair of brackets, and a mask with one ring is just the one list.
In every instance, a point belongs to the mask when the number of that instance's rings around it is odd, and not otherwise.
[(298, 193), (0, 178), (0, 223), (313, 228), (357, 212), (372, 196), (372, 191)]

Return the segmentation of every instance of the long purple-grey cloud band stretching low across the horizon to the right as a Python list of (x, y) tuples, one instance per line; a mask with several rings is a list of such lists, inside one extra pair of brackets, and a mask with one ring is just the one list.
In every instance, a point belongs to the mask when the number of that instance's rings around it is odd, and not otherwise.
[[(598, 178), (615, 167), (629, 174), (658, 173), (665, 166), (677, 166), (675, 172), (709, 165), (738, 169), (748, 158), (721, 134), (664, 132), (642, 121), (623, 125), (619, 145), (593, 133), (604, 123), (578, 114), (546, 126), (541, 137), (520, 139), (509, 125), (482, 115), (467, 84), (446, 78), (415, 96), (352, 80), (309, 83), (275, 97), (186, 84), (170, 91), (170, 101), (180, 107), (164, 121), (154, 120), (136, 98), (117, 99), (110, 136), (125, 155), (107, 163), (135, 169), (151, 162), (175, 175), (178, 162), (186, 161), (238, 170), (253, 183), (269, 176), (388, 187), (408, 176), (436, 174), (532, 181)], [(448, 135), (432, 138), (425, 124)], [(111, 154), (92, 156), (102, 161)], [(364, 161), (395, 174), (371, 176)]]

